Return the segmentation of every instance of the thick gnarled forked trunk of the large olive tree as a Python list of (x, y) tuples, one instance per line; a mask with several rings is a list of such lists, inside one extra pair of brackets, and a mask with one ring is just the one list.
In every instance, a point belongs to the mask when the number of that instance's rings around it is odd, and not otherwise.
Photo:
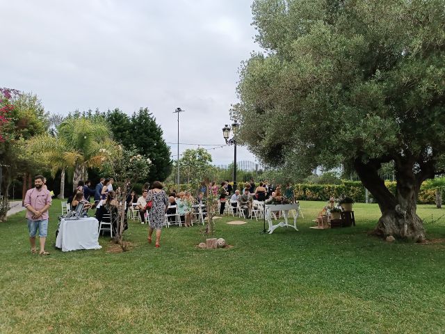
[(382, 212), (374, 233), (381, 237), (391, 235), (398, 239), (423, 241), (425, 230), (421, 218), (416, 214), (417, 196), (423, 177), (414, 173), (415, 161), (396, 161), (396, 196), (378, 175), (381, 162), (369, 161), (364, 164), (357, 159), (354, 163), (360, 180), (378, 201)]

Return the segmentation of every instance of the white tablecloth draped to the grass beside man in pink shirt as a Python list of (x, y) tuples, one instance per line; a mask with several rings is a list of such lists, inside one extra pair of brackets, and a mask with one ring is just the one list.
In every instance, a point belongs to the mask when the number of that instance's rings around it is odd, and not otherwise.
[(63, 252), (78, 249), (100, 249), (99, 221), (94, 217), (85, 217), (77, 220), (62, 219), (58, 229), (56, 247)]

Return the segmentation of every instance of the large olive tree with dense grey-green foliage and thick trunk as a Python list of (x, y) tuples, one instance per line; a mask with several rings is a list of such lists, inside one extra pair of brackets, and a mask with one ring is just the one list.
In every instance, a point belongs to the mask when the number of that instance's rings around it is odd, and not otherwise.
[[(238, 140), (295, 175), (357, 172), (375, 232), (422, 241), (421, 183), (445, 150), (445, 1), (256, 0), (264, 52), (241, 67)], [(394, 196), (378, 175), (393, 161)]]

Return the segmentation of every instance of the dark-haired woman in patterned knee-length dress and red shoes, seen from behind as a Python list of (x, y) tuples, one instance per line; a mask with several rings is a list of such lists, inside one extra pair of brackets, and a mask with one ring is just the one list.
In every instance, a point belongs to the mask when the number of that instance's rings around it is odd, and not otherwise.
[(159, 181), (155, 181), (152, 184), (152, 190), (148, 195), (148, 200), (153, 201), (152, 209), (148, 213), (150, 228), (148, 230), (148, 243), (152, 243), (153, 230), (156, 230), (156, 248), (159, 248), (161, 244), (161, 232), (164, 224), (165, 212), (168, 209), (167, 193), (162, 190), (163, 185)]

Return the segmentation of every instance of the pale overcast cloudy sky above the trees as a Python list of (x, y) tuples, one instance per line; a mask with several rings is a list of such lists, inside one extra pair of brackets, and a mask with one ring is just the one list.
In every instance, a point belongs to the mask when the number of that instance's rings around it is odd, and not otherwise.
[[(147, 106), (168, 143), (180, 107), (181, 143), (223, 145), (238, 67), (258, 49), (251, 3), (0, 0), (0, 86), (33, 92), (63, 115)], [(233, 160), (232, 147), (209, 152), (216, 164)], [(239, 148), (241, 159), (254, 157)]]

